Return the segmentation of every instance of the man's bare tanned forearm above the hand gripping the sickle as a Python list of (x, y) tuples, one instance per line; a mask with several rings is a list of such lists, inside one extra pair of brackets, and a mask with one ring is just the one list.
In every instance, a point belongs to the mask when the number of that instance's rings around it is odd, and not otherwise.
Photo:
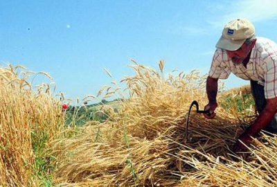
[(217, 78), (211, 78), (208, 76), (206, 82), (206, 92), (208, 95), (208, 103), (216, 103), (217, 97)]

